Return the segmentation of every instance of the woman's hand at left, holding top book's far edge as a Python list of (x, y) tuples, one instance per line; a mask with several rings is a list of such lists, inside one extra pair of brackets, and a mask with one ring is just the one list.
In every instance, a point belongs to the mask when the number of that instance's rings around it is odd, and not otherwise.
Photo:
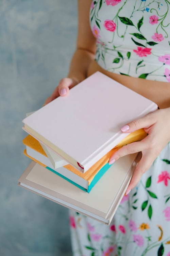
[(49, 102), (51, 102), (59, 96), (66, 96), (69, 92), (69, 89), (71, 89), (78, 83), (79, 81), (74, 78), (66, 77), (61, 79), (58, 86), (54, 89), (53, 93), (51, 94), (51, 96), (45, 100), (44, 105), (48, 104)]

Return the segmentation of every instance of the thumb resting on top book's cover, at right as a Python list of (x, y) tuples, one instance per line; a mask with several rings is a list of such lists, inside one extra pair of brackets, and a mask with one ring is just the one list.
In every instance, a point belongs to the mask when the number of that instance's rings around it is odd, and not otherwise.
[[(156, 110), (158, 111), (158, 110)], [(148, 115), (145, 115), (139, 119), (136, 119), (126, 125), (124, 125), (123, 127), (121, 127), (121, 131), (122, 132), (133, 132), (136, 131), (138, 129), (141, 128), (149, 128), (151, 125), (153, 125), (154, 123), (156, 123), (156, 118), (155, 115), (152, 113), (149, 113)]]

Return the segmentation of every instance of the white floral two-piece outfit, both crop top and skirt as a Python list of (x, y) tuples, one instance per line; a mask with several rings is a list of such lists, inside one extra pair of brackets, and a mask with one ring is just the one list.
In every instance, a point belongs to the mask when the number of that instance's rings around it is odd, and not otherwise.
[[(170, 1), (96, 0), (96, 61), (111, 72), (170, 82)], [(170, 143), (124, 196), (111, 224), (70, 210), (73, 256), (170, 256)]]

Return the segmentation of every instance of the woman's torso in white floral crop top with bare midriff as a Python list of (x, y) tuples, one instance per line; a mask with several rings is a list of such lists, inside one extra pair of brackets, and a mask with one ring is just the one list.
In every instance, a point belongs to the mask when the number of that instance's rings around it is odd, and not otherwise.
[(159, 108), (170, 106), (169, 10), (167, 0), (93, 2), (90, 22), (97, 52), (88, 75), (101, 71)]

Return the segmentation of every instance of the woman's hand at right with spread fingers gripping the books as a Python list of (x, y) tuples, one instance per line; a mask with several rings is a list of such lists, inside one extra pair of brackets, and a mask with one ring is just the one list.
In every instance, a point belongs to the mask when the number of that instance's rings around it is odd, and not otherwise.
[(155, 158), (170, 141), (170, 108), (156, 110), (140, 119), (130, 122), (123, 126), (121, 131), (129, 133), (140, 128), (144, 128), (148, 136), (139, 142), (133, 142), (123, 146), (109, 159), (109, 163), (111, 164), (122, 156), (142, 152), (142, 157), (136, 166), (126, 194), (129, 194), (131, 189), (136, 186), (142, 174), (151, 167)]

